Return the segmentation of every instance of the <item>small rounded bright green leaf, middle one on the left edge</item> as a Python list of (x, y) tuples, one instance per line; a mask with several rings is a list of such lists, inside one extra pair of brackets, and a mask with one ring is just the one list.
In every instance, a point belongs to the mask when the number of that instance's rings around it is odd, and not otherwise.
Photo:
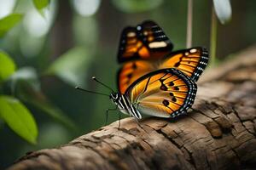
[(0, 51), (0, 82), (8, 79), (16, 69), (15, 62), (9, 54)]

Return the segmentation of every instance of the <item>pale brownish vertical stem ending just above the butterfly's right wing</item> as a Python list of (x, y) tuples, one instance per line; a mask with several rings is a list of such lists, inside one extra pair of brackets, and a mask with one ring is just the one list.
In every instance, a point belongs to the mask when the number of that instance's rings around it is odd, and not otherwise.
[(192, 27), (193, 27), (193, 0), (188, 0), (188, 17), (187, 17), (187, 48), (192, 46)]

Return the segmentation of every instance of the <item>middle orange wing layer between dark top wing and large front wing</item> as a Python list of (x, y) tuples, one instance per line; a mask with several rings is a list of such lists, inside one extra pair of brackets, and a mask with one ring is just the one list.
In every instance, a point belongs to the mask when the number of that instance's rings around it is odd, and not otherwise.
[(119, 92), (124, 94), (126, 88), (139, 77), (151, 71), (166, 68), (177, 68), (196, 82), (201, 76), (202, 71), (206, 68), (208, 60), (207, 49), (189, 48), (167, 54), (164, 59), (157, 62), (152, 62), (147, 59), (137, 59), (135, 61), (126, 62), (119, 70), (118, 74)]

